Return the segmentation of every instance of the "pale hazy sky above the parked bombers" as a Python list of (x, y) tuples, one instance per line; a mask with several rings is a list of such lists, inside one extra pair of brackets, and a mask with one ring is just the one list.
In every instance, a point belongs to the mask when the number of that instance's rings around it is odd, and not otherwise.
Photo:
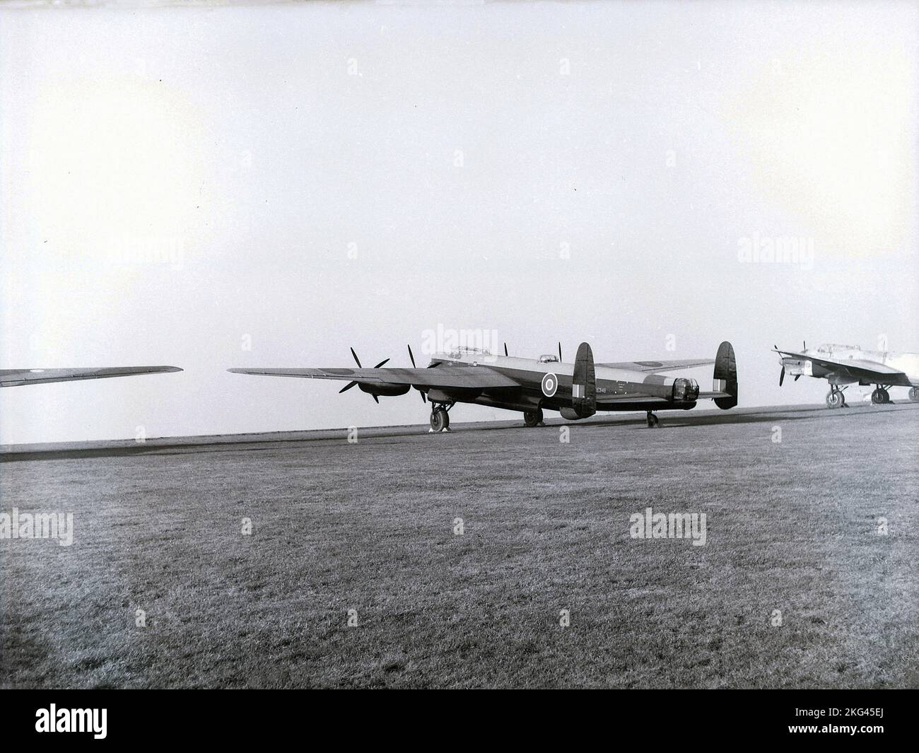
[(438, 326), (730, 339), (741, 405), (823, 400), (774, 343), (919, 350), (913, 3), (0, 8), (0, 368), (186, 370), (2, 390), (0, 442), (425, 422), (224, 370)]

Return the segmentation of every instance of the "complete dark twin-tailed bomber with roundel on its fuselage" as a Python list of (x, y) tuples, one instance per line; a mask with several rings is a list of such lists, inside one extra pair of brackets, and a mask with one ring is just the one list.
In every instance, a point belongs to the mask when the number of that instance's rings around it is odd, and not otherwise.
[[(364, 369), (354, 348), (351, 355), (357, 369), (230, 369), (234, 373), (264, 376), (335, 379), (348, 382), (339, 392), (355, 385), (380, 402), (381, 395), (407, 393), (412, 387), (431, 403), (431, 431), (449, 427), (448, 411), (457, 403), (491, 405), (521, 411), (528, 427), (539, 425), (543, 410), (559, 411), (564, 418), (593, 416), (597, 411), (634, 411), (647, 413), (648, 426), (655, 427), (656, 410), (688, 410), (701, 399), (713, 399), (720, 408), (737, 405), (737, 364), (729, 342), (718, 348), (714, 360), (641, 360), (622, 363), (594, 363), (587, 343), (581, 343), (574, 363), (562, 363), (559, 356), (518, 359), (494, 356), (488, 351), (460, 348), (437, 354), (426, 369)], [(712, 392), (699, 392), (694, 379), (671, 378), (660, 371), (687, 369), (715, 364)]]

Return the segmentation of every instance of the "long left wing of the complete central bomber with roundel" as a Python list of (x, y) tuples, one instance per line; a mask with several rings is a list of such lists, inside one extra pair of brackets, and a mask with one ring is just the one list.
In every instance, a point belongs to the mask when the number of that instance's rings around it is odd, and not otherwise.
[(428, 369), (228, 369), (234, 374), (337, 379), (368, 384), (419, 384), (425, 387), (519, 387), (520, 383), (487, 366), (436, 366)]

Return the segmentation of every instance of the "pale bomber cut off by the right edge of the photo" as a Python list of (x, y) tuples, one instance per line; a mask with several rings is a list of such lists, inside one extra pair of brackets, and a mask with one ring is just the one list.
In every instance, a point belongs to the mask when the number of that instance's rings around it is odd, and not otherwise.
[(782, 371), (778, 384), (789, 373), (797, 382), (801, 376), (825, 379), (830, 382), (826, 405), (845, 407), (845, 386), (874, 384), (871, 402), (875, 405), (891, 402), (891, 387), (909, 387), (910, 400), (919, 402), (919, 353), (891, 353), (884, 350), (862, 350), (857, 345), (822, 345), (808, 350), (807, 343), (800, 353), (789, 350), (775, 351), (782, 357)]

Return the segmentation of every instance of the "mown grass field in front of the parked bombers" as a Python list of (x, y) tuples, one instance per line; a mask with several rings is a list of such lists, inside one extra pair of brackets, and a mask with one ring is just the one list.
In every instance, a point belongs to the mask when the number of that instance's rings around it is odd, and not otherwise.
[(5, 462), (0, 684), (919, 687), (917, 406), (661, 418)]

